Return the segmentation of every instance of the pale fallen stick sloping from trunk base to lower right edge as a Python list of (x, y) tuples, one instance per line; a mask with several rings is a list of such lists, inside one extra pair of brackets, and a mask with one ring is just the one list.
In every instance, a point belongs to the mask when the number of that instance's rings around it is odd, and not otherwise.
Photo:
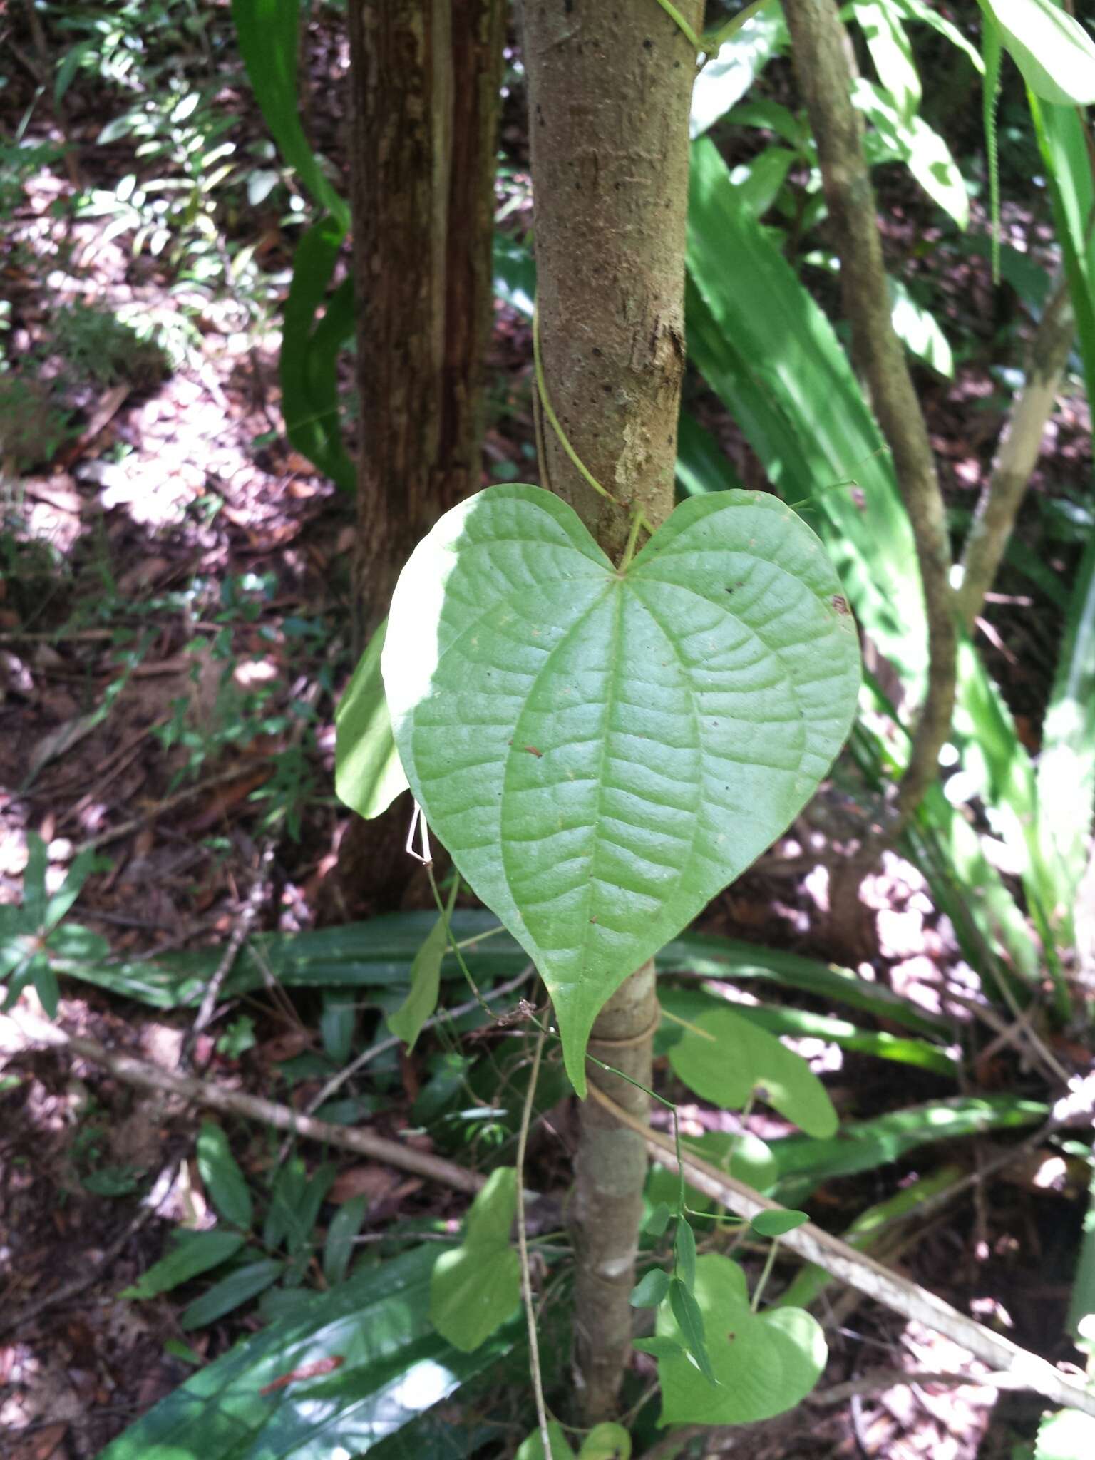
[[(590, 1083), (590, 1094), (616, 1120), (638, 1132), (647, 1143), (647, 1150), (657, 1161), (673, 1171), (677, 1169), (673, 1140), (669, 1136), (651, 1130), (593, 1083)], [(682, 1165), (692, 1186), (745, 1221), (752, 1221), (759, 1212), (783, 1210), (778, 1203), (769, 1202), (743, 1183), (734, 1181), (733, 1177), (718, 1171), (717, 1167), (699, 1156), (686, 1153)], [(974, 1318), (968, 1318), (958, 1308), (952, 1308), (949, 1302), (929, 1292), (927, 1288), (921, 1288), (920, 1283), (899, 1278), (882, 1263), (856, 1251), (854, 1247), (848, 1247), (847, 1242), (815, 1226), (813, 1222), (784, 1232), (781, 1242), (804, 1257), (806, 1261), (816, 1263), (831, 1276), (880, 1302), (891, 1313), (899, 1313), (905, 1318), (912, 1318), (953, 1339), (955, 1343), (983, 1359), (994, 1371), (1013, 1375), (1016, 1384), (1042, 1394), (1054, 1405), (1072, 1406), (1083, 1410), (1085, 1415), (1095, 1416), (1095, 1391), (1061, 1374), (1037, 1353), (1019, 1348), (1003, 1334), (993, 1333)]]

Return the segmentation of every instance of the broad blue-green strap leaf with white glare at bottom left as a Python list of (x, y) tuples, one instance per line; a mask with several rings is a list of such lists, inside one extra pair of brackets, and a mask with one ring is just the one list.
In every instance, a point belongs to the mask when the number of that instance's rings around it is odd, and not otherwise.
[(431, 1332), (435, 1257), (416, 1247), (301, 1295), (293, 1317), (199, 1369), (99, 1460), (331, 1460), (394, 1437), (508, 1346), (469, 1358)]

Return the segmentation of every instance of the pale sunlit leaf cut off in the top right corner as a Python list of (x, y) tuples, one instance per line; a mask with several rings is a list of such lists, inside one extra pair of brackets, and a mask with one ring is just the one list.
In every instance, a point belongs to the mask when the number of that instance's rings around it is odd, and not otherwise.
[(1060, 107), (1095, 102), (1095, 45), (1054, 0), (978, 0), (1035, 96)]

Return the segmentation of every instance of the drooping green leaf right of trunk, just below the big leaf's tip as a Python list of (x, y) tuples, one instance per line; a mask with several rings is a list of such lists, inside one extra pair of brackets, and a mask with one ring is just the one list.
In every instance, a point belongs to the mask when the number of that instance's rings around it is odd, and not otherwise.
[(685, 1029), (669, 1051), (669, 1063), (696, 1095), (742, 1110), (758, 1094), (807, 1136), (826, 1140), (837, 1132), (837, 1111), (828, 1091), (806, 1060), (774, 1034), (733, 1009), (712, 1009), (694, 1023), (701, 1032)]

